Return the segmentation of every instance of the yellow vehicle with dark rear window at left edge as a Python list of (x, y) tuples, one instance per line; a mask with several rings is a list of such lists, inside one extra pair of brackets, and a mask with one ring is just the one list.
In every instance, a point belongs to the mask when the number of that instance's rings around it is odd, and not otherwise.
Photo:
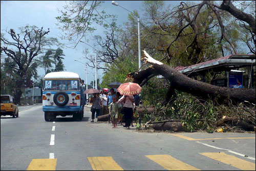
[(1, 116), (10, 115), (13, 118), (18, 117), (18, 106), (13, 96), (1, 94)]

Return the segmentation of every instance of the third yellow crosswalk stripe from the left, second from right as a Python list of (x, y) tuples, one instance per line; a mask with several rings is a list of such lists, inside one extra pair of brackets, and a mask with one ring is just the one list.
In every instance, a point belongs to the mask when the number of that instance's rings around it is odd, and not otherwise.
[(146, 157), (168, 170), (200, 170), (169, 155), (147, 155)]

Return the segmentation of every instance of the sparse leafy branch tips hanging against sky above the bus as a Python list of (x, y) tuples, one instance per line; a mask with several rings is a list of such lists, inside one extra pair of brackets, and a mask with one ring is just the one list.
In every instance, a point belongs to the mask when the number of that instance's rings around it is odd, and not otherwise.
[[(65, 10), (60, 10), (61, 16), (57, 19), (57, 26), (65, 32), (63, 39), (73, 40), (73, 38), (84, 37), (86, 33), (97, 30), (97, 25), (104, 27), (104, 19), (112, 18), (114, 15), (106, 14), (105, 11), (99, 13), (97, 8), (104, 1), (71, 1), (64, 6)], [(79, 38), (78, 38), (79, 39)]]

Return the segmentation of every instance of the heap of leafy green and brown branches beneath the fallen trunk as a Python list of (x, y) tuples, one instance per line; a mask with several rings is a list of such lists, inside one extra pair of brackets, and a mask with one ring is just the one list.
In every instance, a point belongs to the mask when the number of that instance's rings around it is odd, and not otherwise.
[[(218, 100), (203, 100), (187, 93), (176, 92), (168, 104), (155, 105), (155, 110), (141, 111), (142, 123), (160, 124), (166, 122), (180, 122), (182, 131), (206, 130), (212, 133), (218, 127), (224, 131), (237, 128), (253, 131), (255, 126), (255, 105), (249, 102), (233, 104), (228, 100), (226, 104), (218, 104)], [(163, 126), (163, 125), (160, 125)], [(171, 128), (173, 129), (173, 128)]]

